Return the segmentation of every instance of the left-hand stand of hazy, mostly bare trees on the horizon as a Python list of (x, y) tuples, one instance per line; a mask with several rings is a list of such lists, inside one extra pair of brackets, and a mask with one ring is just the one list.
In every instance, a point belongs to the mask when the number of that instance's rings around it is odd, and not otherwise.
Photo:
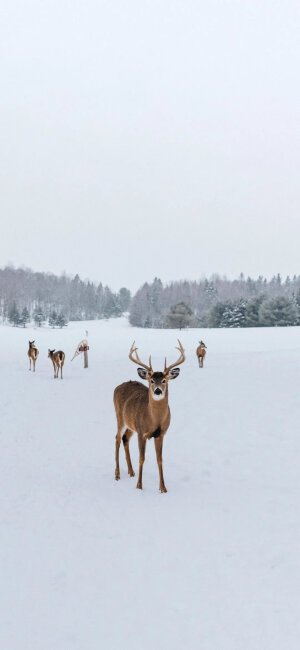
[(63, 327), (69, 320), (120, 316), (130, 307), (131, 294), (122, 287), (114, 293), (101, 282), (83, 281), (79, 275), (35, 273), (7, 266), (0, 269), (0, 316), (15, 326), (49, 323)]

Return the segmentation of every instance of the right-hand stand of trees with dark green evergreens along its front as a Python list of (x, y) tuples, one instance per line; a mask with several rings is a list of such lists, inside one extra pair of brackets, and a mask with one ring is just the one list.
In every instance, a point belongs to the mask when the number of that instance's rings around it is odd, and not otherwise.
[(241, 274), (230, 281), (214, 275), (166, 286), (155, 278), (133, 297), (130, 323), (156, 328), (300, 325), (300, 276), (253, 280)]

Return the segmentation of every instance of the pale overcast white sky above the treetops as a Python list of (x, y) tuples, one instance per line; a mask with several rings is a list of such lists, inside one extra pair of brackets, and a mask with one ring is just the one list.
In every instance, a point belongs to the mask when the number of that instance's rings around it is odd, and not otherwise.
[(0, 265), (300, 273), (295, 0), (2, 0)]

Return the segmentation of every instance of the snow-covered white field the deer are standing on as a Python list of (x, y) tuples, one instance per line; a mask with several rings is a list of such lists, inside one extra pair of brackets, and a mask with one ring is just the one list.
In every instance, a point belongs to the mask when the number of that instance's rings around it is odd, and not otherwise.
[[(88, 370), (70, 362), (85, 329)], [(299, 649), (300, 328), (180, 332), (168, 493), (153, 441), (136, 490), (123, 448), (114, 480), (113, 389), (138, 379), (133, 339), (161, 370), (177, 336), (125, 319), (0, 328), (1, 649)], [(137, 469), (136, 436), (131, 452)]]

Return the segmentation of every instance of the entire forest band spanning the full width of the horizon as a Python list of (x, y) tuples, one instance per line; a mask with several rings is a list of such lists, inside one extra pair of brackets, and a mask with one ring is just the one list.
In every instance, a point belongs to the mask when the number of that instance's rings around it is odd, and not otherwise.
[(280, 275), (236, 280), (214, 275), (198, 281), (163, 285), (155, 278), (131, 297), (122, 287), (113, 293), (100, 282), (78, 275), (56, 276), (7, 266), (0, 269), (0, 316), (26, 326), (48, 323), (63, 327), (69, 320), (111, 318), (129, 312), (136, 327), (266, 327), (300, 325), (300, 276)]

